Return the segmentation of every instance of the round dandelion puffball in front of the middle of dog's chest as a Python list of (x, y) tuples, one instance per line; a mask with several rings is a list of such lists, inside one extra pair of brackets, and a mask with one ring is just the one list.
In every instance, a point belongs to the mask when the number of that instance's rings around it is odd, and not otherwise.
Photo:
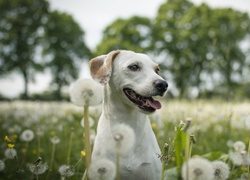
[(131, 150), (135, 143), (135, 133), (131, 127), (125, 124), (115, 125), (112, 129), (113, 138), (108, 147), (110, 150), (125, 154)]

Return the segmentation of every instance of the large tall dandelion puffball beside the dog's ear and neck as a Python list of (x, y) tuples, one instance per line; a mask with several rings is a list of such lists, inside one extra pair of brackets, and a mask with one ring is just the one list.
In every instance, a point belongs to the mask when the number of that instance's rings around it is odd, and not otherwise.
[(70, 91), (70, 100), (77, 106), (96, 106), (102, 99), (103, 87), (93, 79), (79, 79)]

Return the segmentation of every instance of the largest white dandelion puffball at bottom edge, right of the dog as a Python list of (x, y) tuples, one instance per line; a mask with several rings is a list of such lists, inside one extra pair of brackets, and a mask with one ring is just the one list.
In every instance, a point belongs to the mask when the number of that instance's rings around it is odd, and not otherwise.
[[(188, 163), (188, 166), (187, 166)], [(188, 168), (188, 169), (187, 169)], [(188, 171), (188, 173), (187, 173)], [(183, 180), (213, 180), (214, 169), (212, 163), (203, 158), (192, 158), (182, 165)], [(187, 177), (188, 176), (188, 177)]]

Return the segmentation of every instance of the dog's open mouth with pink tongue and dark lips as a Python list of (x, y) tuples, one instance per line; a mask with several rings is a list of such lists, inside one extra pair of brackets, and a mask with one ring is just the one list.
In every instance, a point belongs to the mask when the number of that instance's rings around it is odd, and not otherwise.
[(129, 88), (125, 88), (123, 91), (130, 101), (144, 111), (154, 112), (156, 109), (161, 108), (161, 103), (154, 100), (152, 97), (141, 96)]

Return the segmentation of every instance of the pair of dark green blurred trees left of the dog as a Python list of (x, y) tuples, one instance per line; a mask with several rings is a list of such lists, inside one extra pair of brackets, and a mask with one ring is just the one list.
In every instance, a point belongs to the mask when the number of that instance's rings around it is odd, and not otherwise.
[(51, 70), (60, 99), (61, 88), (77, 78), (82, 58), (89, 58), (84, 31), (71, 15), (49, 11), (46, 0), (0, 2), (0, 75), (22, 75), (28, 83), (35, 73)]

